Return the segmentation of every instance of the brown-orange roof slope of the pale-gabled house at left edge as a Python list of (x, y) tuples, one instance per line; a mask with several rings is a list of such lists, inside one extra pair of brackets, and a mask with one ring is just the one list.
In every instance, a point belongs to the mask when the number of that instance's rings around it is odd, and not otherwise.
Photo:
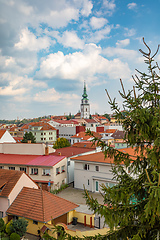
[(0, 169), (0, 197), (9, 196), (22, 174), (22, 171)]

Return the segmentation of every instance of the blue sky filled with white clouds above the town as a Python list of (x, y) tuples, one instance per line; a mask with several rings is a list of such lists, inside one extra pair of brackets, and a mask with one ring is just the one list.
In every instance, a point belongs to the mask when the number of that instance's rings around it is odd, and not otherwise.
[[(84, 81), (91, 114), (121, 106), (146, 72), (142, 38), (160, 44), (160, 0), (0, 0), (0, 119), (76, 114)], [(160, 54), (156, 56), (160, 61)]]

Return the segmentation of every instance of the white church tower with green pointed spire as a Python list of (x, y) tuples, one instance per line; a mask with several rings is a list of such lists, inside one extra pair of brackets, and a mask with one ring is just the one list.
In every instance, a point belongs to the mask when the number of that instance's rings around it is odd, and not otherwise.
[(89, 118), (90, 117), (90, 105), (88, 102), (88, 95), (86, 92), (86, 83), (84, 81), (84, 89), (83, 95), (81, 99), (81, 118)]

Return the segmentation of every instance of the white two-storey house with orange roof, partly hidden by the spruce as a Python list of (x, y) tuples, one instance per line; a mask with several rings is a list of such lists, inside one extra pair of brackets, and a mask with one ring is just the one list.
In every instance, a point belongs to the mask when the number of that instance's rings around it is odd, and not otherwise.
[[(135, 155), (132, 148), (124, 148), (120, 151)], [(88, 191), (99, 192), (102, 184), (110, 187), (116, 184), (111, 172), (114, 160), (109, 157), (105, 158), (103, 152), (72, 157), (71, 160), (74, 161), (75, 188), (84, 189), (85, 186)]]

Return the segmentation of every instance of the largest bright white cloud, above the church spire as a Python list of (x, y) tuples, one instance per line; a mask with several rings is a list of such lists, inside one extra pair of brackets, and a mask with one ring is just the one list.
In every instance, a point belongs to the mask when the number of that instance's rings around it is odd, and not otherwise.
[(112, 61), (101, 56), (101, 48), (95, 44), (85, 46), (83, 52), (74, 52), (64, 55), (62, 52), (50, 54), (42, 60), (37, 78), (70, 79), (93, 82), (97, 74), (107, 74), (109, 78), (130, 75), (130, 69), (126, 63), (119, 59)]

